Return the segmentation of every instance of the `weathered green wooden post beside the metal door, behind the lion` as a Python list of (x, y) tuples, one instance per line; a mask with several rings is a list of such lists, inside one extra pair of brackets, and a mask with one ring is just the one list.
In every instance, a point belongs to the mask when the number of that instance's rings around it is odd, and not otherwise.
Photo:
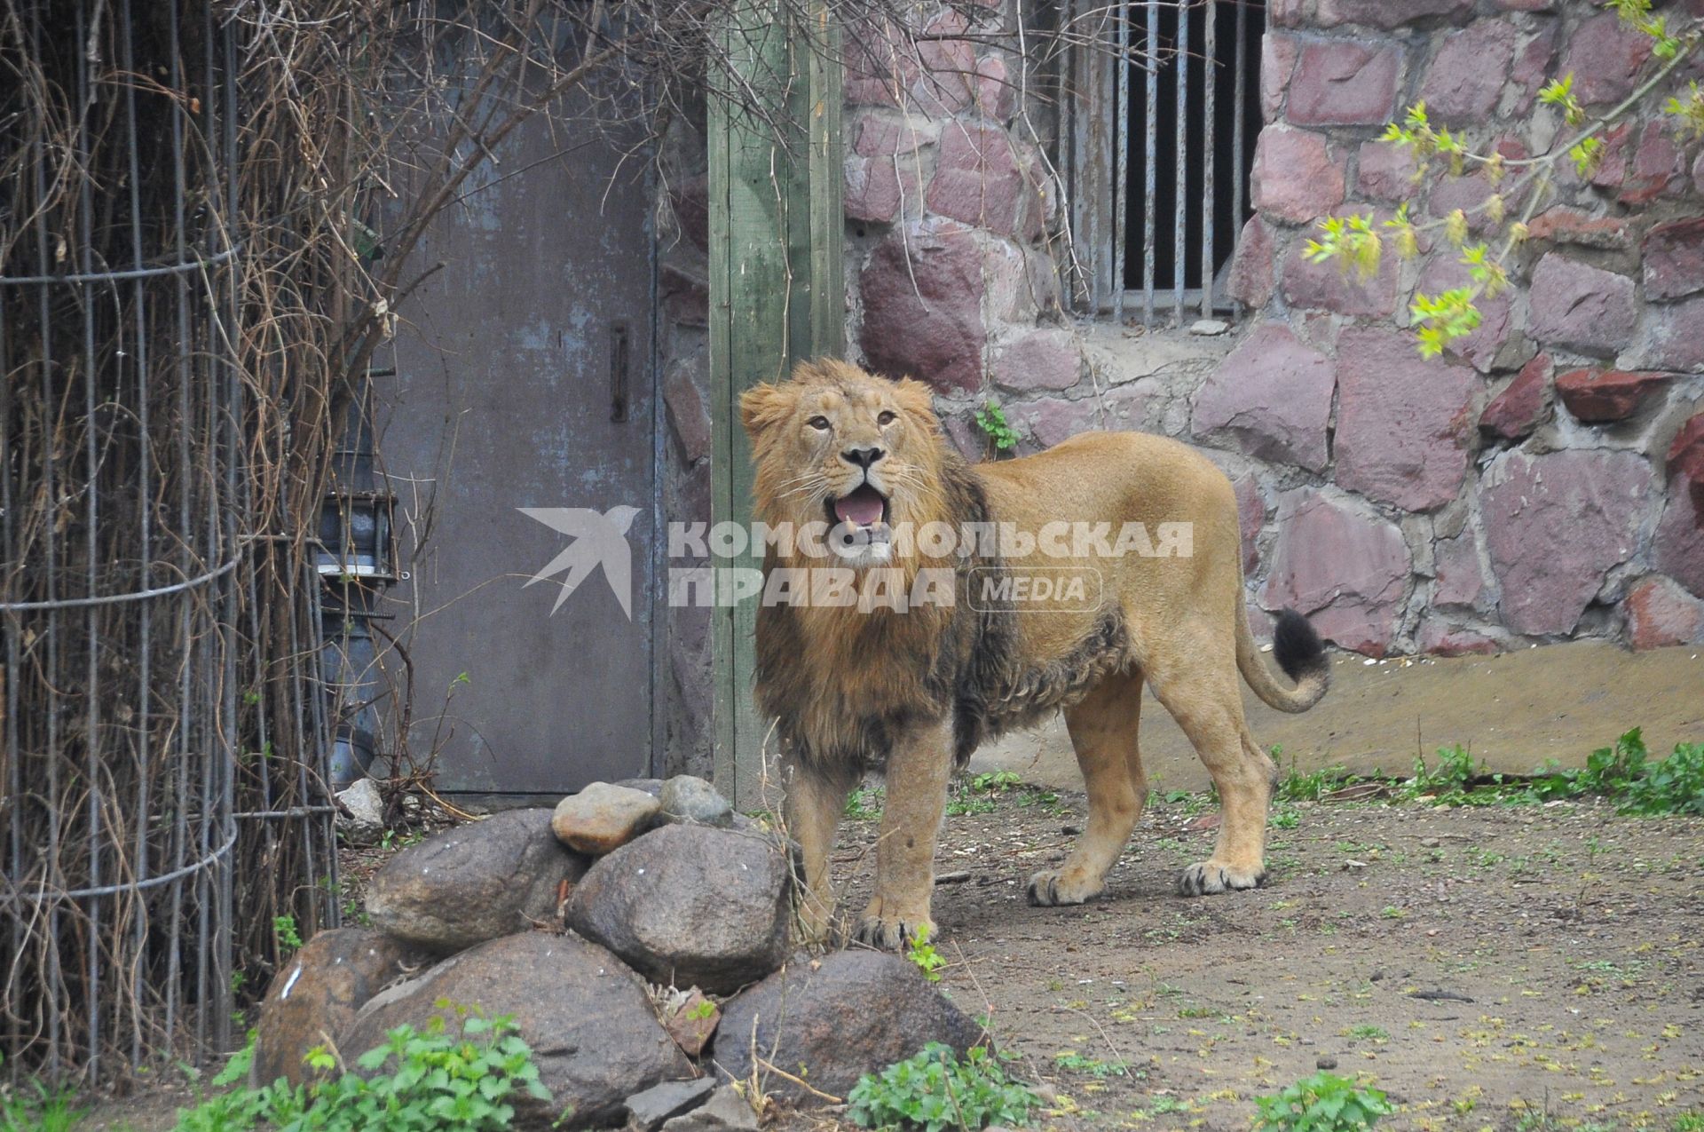
[[(787, 5), (796, 9), (796, 5)], [(796, 361), (838, 355), (845, 334), (842, 63), (826, 2), (809, 26), (777, 0), (741, 0), (722, 26), (731, 73), (709, 99), (711, 517), (750, 528), (751, 448), (740, 392)], [(726, 569), (758, 569), (762, 547)], [(712, 610), (714, 774), (755, 805), (769, 723), (751, 702), (757, 598)]]

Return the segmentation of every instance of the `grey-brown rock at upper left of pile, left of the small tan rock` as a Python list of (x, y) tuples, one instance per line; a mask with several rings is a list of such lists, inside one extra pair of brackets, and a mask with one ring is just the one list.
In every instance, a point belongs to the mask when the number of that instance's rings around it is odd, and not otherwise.
[(366, 887), (373, 927), (436, 953), (554, 922), (586, 871), (550, 832), (549, 810), (508, 810), (394, 856)]

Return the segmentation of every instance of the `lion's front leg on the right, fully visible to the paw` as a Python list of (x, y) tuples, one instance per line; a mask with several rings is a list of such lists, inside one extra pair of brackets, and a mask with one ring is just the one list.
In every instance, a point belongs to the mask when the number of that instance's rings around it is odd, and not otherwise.
[(888, 755), (888, 798), (876, 844), (876, 895), (855, 938), (896, 950), (918, 931), (934, 933), (929, 898), (935, 888), (935, 835), (953, 777), (953, 723), (910, 728)]

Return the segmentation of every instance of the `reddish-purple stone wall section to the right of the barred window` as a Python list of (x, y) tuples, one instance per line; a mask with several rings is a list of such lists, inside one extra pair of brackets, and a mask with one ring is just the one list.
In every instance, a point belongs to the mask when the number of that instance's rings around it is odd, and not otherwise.
[(1701, 639), (1704, 155), (1661, 97), (1607, 135), (1588, 181), (1569, 165), (1537, 201), (1518, 285), (1442, 361), (1401, 329), (1416, 288), (1465, 283), (1442, 232), (1365, 281), (1302, 257), (1321, 217), (1413, 198), (1440, 218), (1493, 191), (1482, 174), (1416, 188), (1375, 140), (1411, 102), (1527, 157), (1559, 130), (1540, 85), (1573, 73), (1607, 109), (1648, 73), (1649, 39), (1586, 0), (1281, 0), (1269, 19), (1232, 276), (1252, 326), (1189, 426), (1259, 460), (1259, 604), (1372, 655)]

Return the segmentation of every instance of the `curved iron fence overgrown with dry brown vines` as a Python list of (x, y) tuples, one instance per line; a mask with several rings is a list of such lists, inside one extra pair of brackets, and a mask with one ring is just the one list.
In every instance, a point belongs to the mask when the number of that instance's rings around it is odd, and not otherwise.
[(317, 578), (247, 525), (237, 72), (203, 0), (0, 2), (14, 1074), (228, 1048), (256, 914), (337, 915)]

